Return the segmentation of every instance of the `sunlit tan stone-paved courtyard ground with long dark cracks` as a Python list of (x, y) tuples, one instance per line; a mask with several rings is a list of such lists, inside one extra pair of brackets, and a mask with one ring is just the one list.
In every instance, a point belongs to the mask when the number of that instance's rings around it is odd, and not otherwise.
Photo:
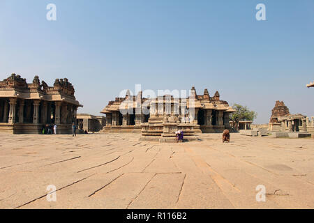
[(139, 137), (0, 134), (0, 208), (314, 208), (313, 139)]

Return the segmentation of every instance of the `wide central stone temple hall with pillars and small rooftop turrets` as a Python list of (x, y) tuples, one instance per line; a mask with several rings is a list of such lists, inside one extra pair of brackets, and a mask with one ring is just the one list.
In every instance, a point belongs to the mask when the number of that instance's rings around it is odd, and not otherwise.
[[(197, 95), (193, 87), (188, 98), (174, 98), (172, 95), (143, 98), (142, 92), (135, 96), (130, 95), (128, 91), (124, 98), (110, 101), (101, 113), (106, 114), (105, 131), (141, 132), (143, 130), (143, 134), (152, 131), (152, 135), (158, 134), (161, 137), (161, 134), (165, 133), (167, 123), (176, 123), (179, 125), (178, 128), (185, 128), (186, 125), (186, 132), (232, 130), (229, 125), (232, 112), (235, 112), (234, 109), (226, 101), (220, 100), (218, 91), (213, 97), (209, 95), (207, 89), (204, 90), (203, 95)], [(177, 118), (175, 122), (169, 121), (172, 116)], [(151, 129), (153, 123), (156, 125)], [(173, 130), (170, 132), (173, 133)]]

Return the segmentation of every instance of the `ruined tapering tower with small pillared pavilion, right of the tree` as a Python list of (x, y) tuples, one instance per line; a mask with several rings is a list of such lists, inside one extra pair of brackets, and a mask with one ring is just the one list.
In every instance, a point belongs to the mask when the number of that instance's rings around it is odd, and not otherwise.
[(290, 114), (283, 102), (276, 101), (269, 121), (270, 131), (306, 132), (306, 116)]

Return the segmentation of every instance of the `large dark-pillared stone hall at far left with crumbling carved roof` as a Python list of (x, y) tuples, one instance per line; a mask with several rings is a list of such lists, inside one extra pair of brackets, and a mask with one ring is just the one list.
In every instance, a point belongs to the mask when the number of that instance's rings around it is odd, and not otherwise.
[(56, 79), (54, 86), (40, 83), (35, 76), (31, 84), (12, 74), (0, 82), (0, 132), (37, 134), (49, 123), (57, 124), (57, 132), (71, 132), (77, 107), (75, 90), (68, 79)]

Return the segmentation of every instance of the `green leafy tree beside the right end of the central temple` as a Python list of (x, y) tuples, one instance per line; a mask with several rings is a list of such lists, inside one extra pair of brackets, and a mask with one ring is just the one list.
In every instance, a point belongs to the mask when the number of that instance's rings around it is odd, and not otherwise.
[(234, 123), (233, 126), (238, 126), (239, 121), (254, 121), (257, 117), (257, 113), (250, 111), (248, 107), (234, 104), (232, 108), (236, 110), (236, 112), (230, 115), (230, 120)]

